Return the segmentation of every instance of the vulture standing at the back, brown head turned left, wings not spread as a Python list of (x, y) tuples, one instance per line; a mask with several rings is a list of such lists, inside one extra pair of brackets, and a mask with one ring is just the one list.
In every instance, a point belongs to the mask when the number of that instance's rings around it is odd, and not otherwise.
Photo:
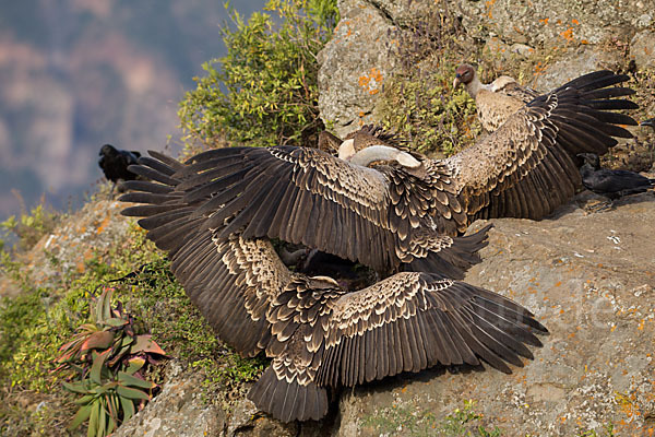
[(514, 79), (501, 75), (489, 84), (484, 84), (473, 66), (464, 63), (455, 70), (453, 90), (463, 84), (475, 101), (483, 129), (489, 133), (500, 128), (508, 118), (537, 97), (539, 93), (521, 86)]

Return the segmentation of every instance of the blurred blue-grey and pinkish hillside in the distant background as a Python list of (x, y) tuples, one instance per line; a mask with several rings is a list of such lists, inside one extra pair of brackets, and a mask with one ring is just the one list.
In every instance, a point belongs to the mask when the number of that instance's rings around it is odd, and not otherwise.
[[(263, 5), (233, 4), (246, 17)], [(225, 54), (227, 20), (216, 0), (2, 2), (0, 221), (21, 198), (79, 204), (102, 178), (102, 144), (176, 152), (178, 102)]]

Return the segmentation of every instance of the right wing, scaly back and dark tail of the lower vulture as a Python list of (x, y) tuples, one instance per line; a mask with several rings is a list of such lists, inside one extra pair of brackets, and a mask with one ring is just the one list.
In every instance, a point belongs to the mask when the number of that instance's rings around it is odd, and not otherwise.
[(269, 311), (271, 367), (249, 398), (282, 421), (326, 413), (326, 387), (354, 386), (436, 364), (501, 371), (532, 358), (547, 330), (511, 300), (426, 273), (397, 273), (344, 294), (321, 277), (289, 284)]

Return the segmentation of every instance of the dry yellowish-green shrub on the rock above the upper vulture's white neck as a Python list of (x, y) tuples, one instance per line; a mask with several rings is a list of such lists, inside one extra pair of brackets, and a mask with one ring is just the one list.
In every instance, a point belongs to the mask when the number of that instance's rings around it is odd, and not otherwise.
[(463, 88), (452, 88), (456, 66), (477, 50), (464, 46), (462, 35), (458, 20), (442, 7), (396, 31), (397, 44), (390, 48), (400, 66), (385, 83), (376, 115), (422, 153), (456, 153), (481, 130), (474, 101)]

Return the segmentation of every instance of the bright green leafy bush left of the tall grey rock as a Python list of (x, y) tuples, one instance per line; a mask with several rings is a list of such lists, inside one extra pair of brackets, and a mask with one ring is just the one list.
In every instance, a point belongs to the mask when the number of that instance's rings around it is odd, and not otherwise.
[[(206, 76), (180, 103), (187, 149), (309, 144), (322, 130), (317, 54), (338, 21), (335, 0), (270, 0), (248, 22), (230, 11), (227, 56), (203, 64)], [(279, 24), (276, 24), (279, 23)]]

